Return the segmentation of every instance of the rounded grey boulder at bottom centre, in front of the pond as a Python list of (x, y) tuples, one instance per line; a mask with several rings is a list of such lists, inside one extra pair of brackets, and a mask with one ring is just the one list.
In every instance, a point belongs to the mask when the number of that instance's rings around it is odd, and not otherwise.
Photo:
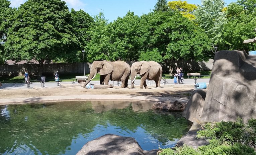
[(156, 155), (159, 150), (143, 150), (132, 137), (105, 134), (87, 142), (76, 155)]

